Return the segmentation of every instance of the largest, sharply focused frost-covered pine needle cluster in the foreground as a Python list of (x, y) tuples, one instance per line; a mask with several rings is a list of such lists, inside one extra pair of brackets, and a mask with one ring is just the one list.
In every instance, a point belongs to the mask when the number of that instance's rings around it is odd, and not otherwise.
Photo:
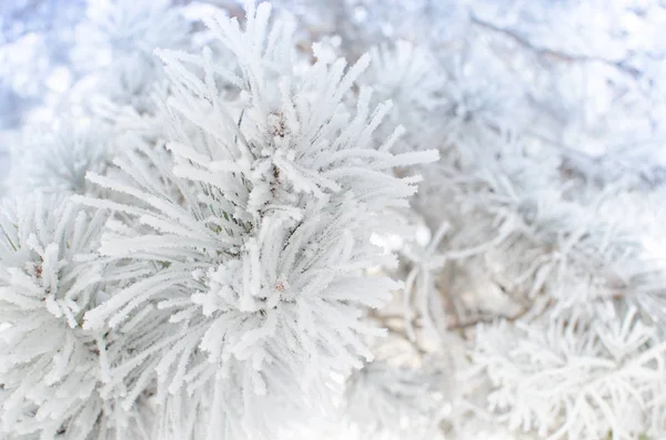
[(395, 136), (376, 145), (390, 104), (371, 112), (369, 89), (347, 109), (367, 58), (307, 65), (292, 22), (269, 17), (266, 3), (250, 3), (244, 29), (210, 20), (236, 65), (206, 50), (160, 52), (173, 90), (169, 152), (138, 140), (118, 158), (119, 177), (90, 175), (134, 203), (78, 198), (130, 216), (104, 235), (103, 255), (158, 267), (87, 313), (84, 328), (114, 328), (150, 305), (178, 324), (151, 330), (164, 338), (158, 401), (167, 419), (176, 415), (161, 438), (198, 405), (210, 406), (208, 424), (180, 434), (272, 433), (331, 400), (331, 374), (372, 359), (363, 338), (382, 331), (363, 310), (400, 285), (365, 275), (391, 264), (370, 237), (398, 232), (386, 209), (415, 192), (414, 177), (392, 170), (437, 157), (394, 155)]

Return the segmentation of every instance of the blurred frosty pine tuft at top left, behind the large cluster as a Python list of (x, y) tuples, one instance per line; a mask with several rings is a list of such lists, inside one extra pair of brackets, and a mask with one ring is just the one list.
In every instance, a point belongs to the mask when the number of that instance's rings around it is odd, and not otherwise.
[(168, 0), (94, 1), (89, 2), (87, 14), (77, 29), (84, 39), (74, 57), (80, 69), (95, 78), (94, 92), (117, 106), (153, 113), (153, 94), (164, 88), (162, 65), (153, 51), (188, 47), (190, 23)]

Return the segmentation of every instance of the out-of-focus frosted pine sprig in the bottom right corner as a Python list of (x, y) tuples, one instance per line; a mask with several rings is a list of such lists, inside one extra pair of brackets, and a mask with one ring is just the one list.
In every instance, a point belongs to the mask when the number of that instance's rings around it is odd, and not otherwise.
[(491, 409), (509, 429), (547, 439), (664, 433), (666, 345), (635, 308), (477, 330), (474, 364), (486, 369)]

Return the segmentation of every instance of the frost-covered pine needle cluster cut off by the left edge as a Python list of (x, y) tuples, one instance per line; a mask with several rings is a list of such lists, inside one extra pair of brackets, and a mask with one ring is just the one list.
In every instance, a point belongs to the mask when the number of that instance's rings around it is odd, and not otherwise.
[[(144, 402), (121, 409), (117, 398), (123, 388), (104, 389), (109, 362), (145, 349), (145, 342), (83, 328), (85, 313), (105, 299), (108, 289), (122, 286), (123, 277), (97, 257), (105, 218), (102, 212), (87, 213), (62, 196), (39, 192), (2, 203), (3, 438), (110, 440), (147, 429), (150, 410)], [(108, 346), (113, 346), (111, 356)]]

